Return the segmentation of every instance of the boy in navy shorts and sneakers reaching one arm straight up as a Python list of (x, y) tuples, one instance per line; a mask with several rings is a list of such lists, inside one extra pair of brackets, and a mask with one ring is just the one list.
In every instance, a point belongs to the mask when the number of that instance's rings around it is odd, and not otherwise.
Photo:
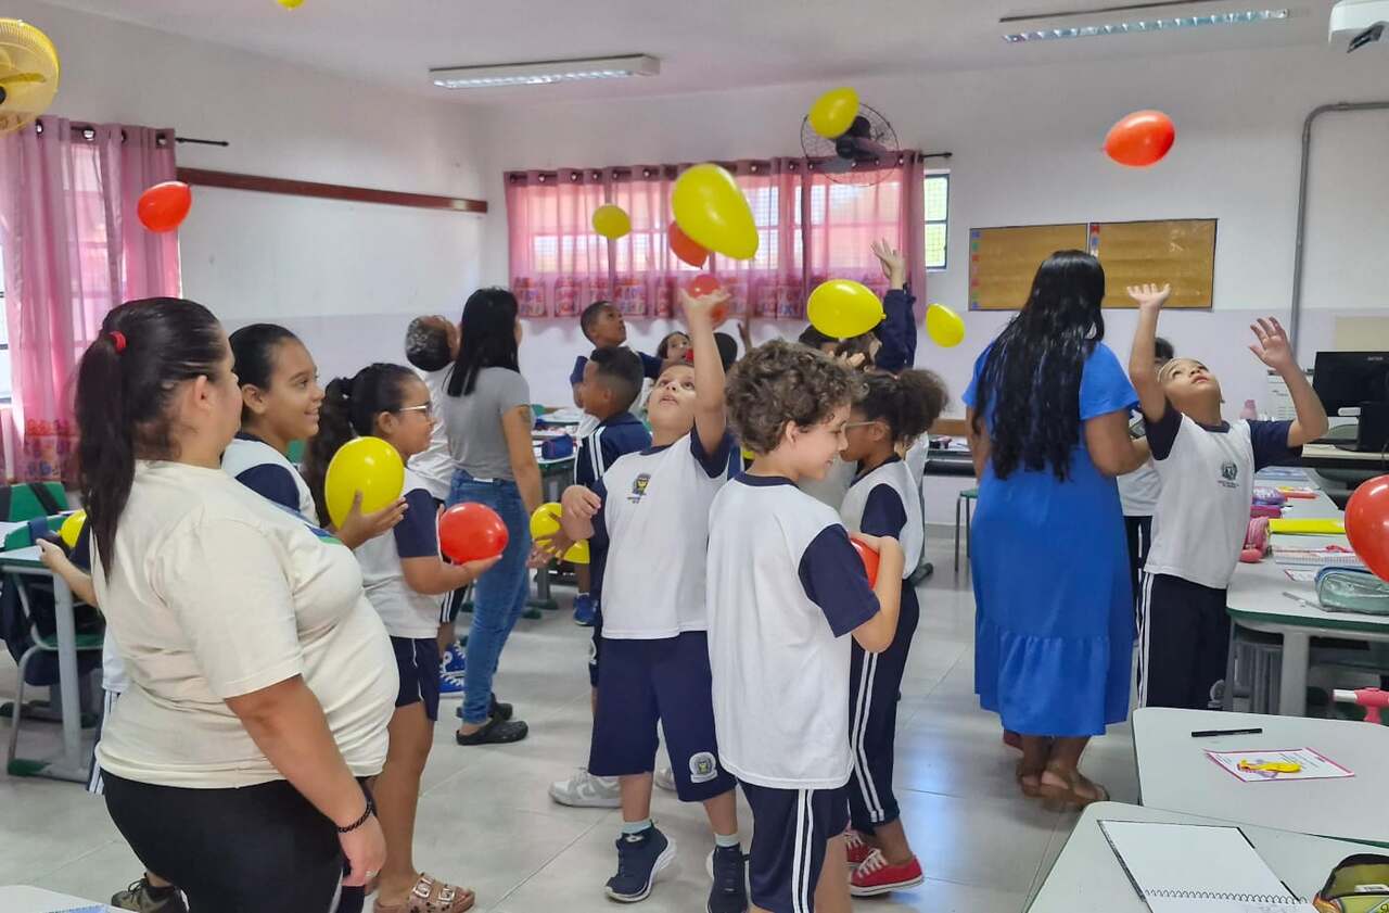
[(594, 775), (621, 780), (618, 871), (607, 895), (644, 899), (675, 859), (675, 844), (651, 823), (660, 723), (676, 792), (704, 805), (714, 831), (710, 913), (747, 906), (735, 781), (720, 766), (714, 737), (704, 607), (706, 518), (732, 446), (710, 315), (726, 297), (681, 293), (694, 364), (674, 363), (657, 379), (649, 403), (653, 446), (619, 457), (592, 489), (565, 491), (563, 517), (567, 538), (607, 543), (589, 756)]

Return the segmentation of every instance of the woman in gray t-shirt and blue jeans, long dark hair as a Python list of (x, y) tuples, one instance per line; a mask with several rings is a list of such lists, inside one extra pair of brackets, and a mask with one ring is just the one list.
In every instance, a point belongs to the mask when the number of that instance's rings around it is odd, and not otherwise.
[(518, 742), (526, 724), (492, 693), (501, 648), (529, 595), (531, 514), (540, 506), (540, 467), (531, 445), (531, 388), (517, 365), (521, 322), (506, 289), (478, 289), (463, 307), (463, 343), (444, 385), (443, 421), (458, 461), (449, 504), (486, 504), (507, 524), (501, 560), (478, 578), (468, 632), (467, 696), (458, 745)]

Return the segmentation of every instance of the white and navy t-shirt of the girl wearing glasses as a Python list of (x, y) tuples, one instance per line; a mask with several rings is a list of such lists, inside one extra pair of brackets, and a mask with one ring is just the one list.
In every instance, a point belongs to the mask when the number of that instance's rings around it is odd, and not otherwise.
[(439, 557), (439, 510), (425, 478), (406, 468), (401, 493), (408, 510), (393, 535), (367, 539), (354, 554), (361, 564), (361, 585), (371, 607), (393, 638), (433, 639), (439, 635), (442, 596), (417, 592), (406, 582), (401, 559)]

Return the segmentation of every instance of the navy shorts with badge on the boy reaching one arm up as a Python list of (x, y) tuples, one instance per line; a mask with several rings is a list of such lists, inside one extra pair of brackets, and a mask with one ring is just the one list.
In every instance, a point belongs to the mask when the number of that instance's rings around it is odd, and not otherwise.
[(589, 773), (651, 773), (657, 723), (665, 731), (681, 800), (704, 802), (738, 784), (718, 766), (708, 638), (703, 631), (660, 641), (603, 641)]

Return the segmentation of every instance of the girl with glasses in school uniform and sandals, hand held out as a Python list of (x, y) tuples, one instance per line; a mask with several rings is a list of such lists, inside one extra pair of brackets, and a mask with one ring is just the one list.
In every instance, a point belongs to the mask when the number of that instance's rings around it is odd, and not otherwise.
[[(403, 497), (410, 509), (404, 520), (393, 535), (354, 549), (367, 599), (390, 635), (400, 675), (386, 764), (372, 785), (386, 837), (375, 913), (425, 907), (463, 913), (474, 903), (471, 889), (418, 871), (413, 859), (419, 777), (439, 720), (440, 596), (472, 582), (501, 557), (465, 564), (447, 564), (439, 557), (439, 509), (424, 477), (408, 466), (411, 457), (429, 447), (433, 427), (433, 402), (424, 381), (404, 365), (372, 364), (328, 385), (321, 427), (308, 457), (315, 470), (321, 468), (318, 464), (331, 461), (353, 438), (374, 435), (392, 445), (407, 463)], [(314, 488), (314, 502), (326, 514), (319, 486)]]

